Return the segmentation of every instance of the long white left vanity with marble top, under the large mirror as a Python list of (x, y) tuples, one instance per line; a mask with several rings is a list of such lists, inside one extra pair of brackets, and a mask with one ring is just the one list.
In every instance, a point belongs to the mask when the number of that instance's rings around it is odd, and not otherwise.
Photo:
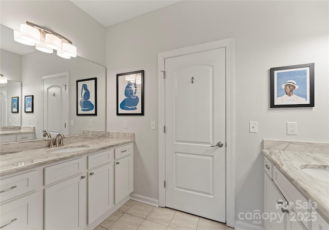
[(134, 133), (117, 134), (2, 152), (1, 229), (94, 229), (133, 192)]

